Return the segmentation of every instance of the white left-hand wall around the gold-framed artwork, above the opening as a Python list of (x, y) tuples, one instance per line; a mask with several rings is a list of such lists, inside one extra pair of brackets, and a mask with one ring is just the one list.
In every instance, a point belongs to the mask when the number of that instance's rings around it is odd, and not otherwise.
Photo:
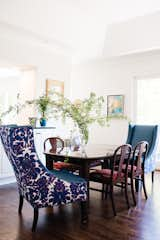
[(34, 35), (2, 23), (0, 23), (0, 63), (14, 66), (29, 65), (36, 68), (37, 95), (44, 93), (47, 78), (64, 81), (66, 94), (69, 94), (71, 57), (66, 54), (65, 49), (63, 51), (57, 46), (49, 46)]

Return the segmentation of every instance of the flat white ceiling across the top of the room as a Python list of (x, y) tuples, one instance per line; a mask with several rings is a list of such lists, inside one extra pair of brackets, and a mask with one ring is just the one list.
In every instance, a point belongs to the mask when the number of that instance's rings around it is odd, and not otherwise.
[(0, 0), (0, 22), (98, 56), (109, 24), (159, 10), (160, 0)]

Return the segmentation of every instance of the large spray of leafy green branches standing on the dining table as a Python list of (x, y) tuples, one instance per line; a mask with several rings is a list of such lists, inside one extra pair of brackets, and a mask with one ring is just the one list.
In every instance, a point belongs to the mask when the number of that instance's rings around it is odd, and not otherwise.
[(69, 99), (59, 94), (58, 100), (54, 103), (55, 112), (62, 119), (71, 118), (78, 127), (82, 142), (85, 144), (89, 138), (89, 125), (97, 122), (104, 126), (108, 123), (109, 118), (104, 112), (104, 98), (97, 97), (95, 93), (90, 93), (88, 99), (71, 102)]

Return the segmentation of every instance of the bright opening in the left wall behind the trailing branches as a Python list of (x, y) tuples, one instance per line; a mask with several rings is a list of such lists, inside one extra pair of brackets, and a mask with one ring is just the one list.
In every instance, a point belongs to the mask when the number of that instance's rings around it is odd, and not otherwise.
[[(0, 113), (8, 110), (10, 106), (23, 104), (26, 100), (35, 98), (36, 68), (23, 66), (23, 68), (0, 68)], [(7, 114), (2, 119), (3, 124), (28, 124), (28, 118), (34, 116), (33, 107), (27, 107), (18, 113)]]

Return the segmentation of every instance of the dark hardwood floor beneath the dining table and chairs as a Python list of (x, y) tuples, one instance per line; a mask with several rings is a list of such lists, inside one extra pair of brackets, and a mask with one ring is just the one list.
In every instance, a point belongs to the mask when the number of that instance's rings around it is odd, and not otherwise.
[(33, 211), (26, 201), (22, 216), (17, 213), (16, 184), (0, 186), (0, 240), (159, 240), (160, 172), (156, 172), (153, 186), (150, 175), (146, 183), (148, 200), (145, 201), (143, 193), (139, 194), (138, 205), (129, 210), (124, 193), (117, 188), (116, 217), (113, 216), (110, 199), (102, 201), (99, 192), (91, 191), (87, 225), (80, 224), (77, 204), (41, 209), (36, 233), (31, 232)]

